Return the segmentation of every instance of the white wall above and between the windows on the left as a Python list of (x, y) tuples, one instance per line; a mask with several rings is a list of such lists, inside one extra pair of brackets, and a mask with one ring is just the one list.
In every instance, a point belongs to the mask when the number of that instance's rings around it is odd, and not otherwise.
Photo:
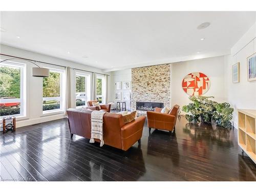
[[(100, 70), (100, 69), (85, 66), (80, 63), (75, 63), (72, 61), (63, 60), (63, 59), (59, 59), (56, 57), (51, 57), (51, 56), (47, 56), (47, 55), (43, 55), (43, 54), (39, 54), (39, 53), (34, 53), (31, 51), (22, 50), (22, 49), (17, 49), (17, 48), (10, 47), (10, 46), (0, 45), (0, 52), (2, 54), (17, 56), (17, 57), (24, 57), (24, 58), (28, 58), (28, 59), (34, 59), (34, 60), (38, 60), (38, 61), (54, 63), (54, 64), (61, 65), (61, 66), (67, 66), (67, 67), (69, 66), (69, 67), (77, 68), (77, 69), (81, 69), (81, 70), (88, 70), (88, 71), (93, 71), (93, 72), (97, 72), (97, 73), (103, 73), (102, 70)], [(6, 58), (10, 58), (10, 57), (1, 56), (1, 59), (6, 59)], [(23, 61), (19, 61), (19, 60), (15, 60), (15, 61), (23, 62)], [(26, 61), (24, 61), (24, 63), (25, 62)], [(29, 62), (26, 62), (26, 64), (27, 64), (27, 93), (28, 93), (28, 95), (27, 95), (27, 116), (22, 119), (17, 118), (17, 119), (19, 119), (19, 120), (17, 120), (17, 123), (16, 123), (17, 127), (46, 122), (46, 121), (66, 117), (66, 115), (64, 113), (47, 115), (47, 116), (42, 115), (42, 78), (33, 77), (31, 74), (31, 71), (32, 71), (31, 68), (35, 67), (35, 66), (33, 66)], [(43, 65), (42, 63), (37, 63), (37, 64), (40, 67), (46, 66), (46, 65)], [(57, 67), (53, 67), (53, 66), (48, 66), (48, 67), (57, 68)], [(71, 84), (73, 85), (74, 81)], [(74, 87), (71, 88), (71, 90), (74, 90)], [(74, 94), (71, 94), (71, 95), (74, 96)], [(74, 99), (74, 97), (73, 97), (73, 99)]]

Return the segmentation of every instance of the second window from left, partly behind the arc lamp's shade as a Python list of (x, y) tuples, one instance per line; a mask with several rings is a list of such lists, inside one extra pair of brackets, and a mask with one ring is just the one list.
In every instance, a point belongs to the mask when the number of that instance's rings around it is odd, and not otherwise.
[(50, 76), (42, 79), (43, 113), (62, 111), (64, 109), (65, 81), (64, 71), (50, 69)]

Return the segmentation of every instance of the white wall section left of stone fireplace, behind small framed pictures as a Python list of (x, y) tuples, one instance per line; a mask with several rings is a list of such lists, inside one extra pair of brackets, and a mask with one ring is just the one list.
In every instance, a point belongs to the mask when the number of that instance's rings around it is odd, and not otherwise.
[[(121, 92), (121, 97), (123, 92), (131, 92), (131, 90), (115, 90), (115, 82), (118, 81), (132, 81), (132, 70), (120, 70), (111, 72), (111, 101), (116, 102), (115, 92)], [(131, 101), (126, 101), (126, 109), (131, 110)]]

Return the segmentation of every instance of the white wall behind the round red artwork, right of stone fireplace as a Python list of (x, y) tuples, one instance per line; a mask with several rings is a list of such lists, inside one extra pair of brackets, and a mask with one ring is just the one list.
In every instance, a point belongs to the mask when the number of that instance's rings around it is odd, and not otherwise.
[[(170, 94), (172, 105), (178, 104), (180, 108), (190, 102), (181, 86), (183, 78), (191, 72), (202, 72), (210, 79), (210, 89), (204, 96), (214, 96), (217, 102), (225, 102), (224, 85), (224, 56), (210, 57), (197, 60), (172, 63), (170, 69)], [(182, 112), (182, 114), (184, 114)]]

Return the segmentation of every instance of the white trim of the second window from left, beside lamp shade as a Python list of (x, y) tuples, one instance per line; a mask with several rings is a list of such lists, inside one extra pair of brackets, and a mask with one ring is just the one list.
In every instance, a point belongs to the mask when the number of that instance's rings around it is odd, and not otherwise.
[[(50, 72), (57, 72), (60, 73), (60, 96), (59, 97), (42, 97), (42, 103), (44, 101), (49, 101), (49, 100), (59, 100), (60, 106), (59, 109), (55, 110), (42, 110), (42, 116), (47, 116), (47, 115), (54, 115), (54, 114), (61, 114), (64, 113), (65, 111), (65, 106), (66, 106), (66, 73), (65, 70), (61, 69), (54, 69), (54, 68), (48, 68)], [(41, 108), (42, 109), (42, 108)]]

